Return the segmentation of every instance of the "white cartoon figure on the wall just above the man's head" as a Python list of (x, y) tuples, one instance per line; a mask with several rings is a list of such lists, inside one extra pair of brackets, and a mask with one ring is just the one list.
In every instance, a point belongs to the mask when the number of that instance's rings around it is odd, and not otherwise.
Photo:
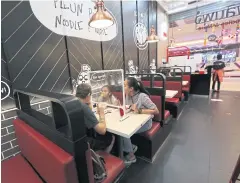
[(78, 74), (77, 80), (72, 79), (73, 93), (76, 92), (77, 86), (82, 83), (89, 83), (88, 72), (91, 71), (91, 67), (88, 64), (81, 65), (81, 72)]

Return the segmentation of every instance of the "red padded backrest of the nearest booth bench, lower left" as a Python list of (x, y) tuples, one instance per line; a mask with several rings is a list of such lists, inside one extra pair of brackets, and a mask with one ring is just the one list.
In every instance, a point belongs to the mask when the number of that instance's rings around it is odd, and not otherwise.
[[(70, 154), (22, 120), (16, 119), (13, 124), (21, 154), (31, 163), (44, 181), (47, 183), (78, 183), (75, 162)], [(19, 156), (21, 157), (21, 155)], [(21, 159), (22, 157), (20, 157), (18, 158)], [(22, 171), (23, 174), (21, 176), (29, 179), (20, 181), (19, 171), (26, 169), (26, 164), (19, 159), (6, 160), (12, 161), (10, 165), (9, 162), (6, 162), (11, 168), (5, 166), (11, 169), (11, 176), (9, 177), (11, 181), (6, 178), (2, 183), (35, 183), (31, 181), (32, 177), (34, 177), (33, 173), (31, 173), (33, 170)], [(3, 171), (8, 171), (8, 169)]]

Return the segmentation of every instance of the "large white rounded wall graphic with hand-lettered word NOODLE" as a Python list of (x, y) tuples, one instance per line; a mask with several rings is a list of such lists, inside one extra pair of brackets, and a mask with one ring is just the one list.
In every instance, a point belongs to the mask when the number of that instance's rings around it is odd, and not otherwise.
[[(104, 29), (88, 26), (88, 21), (95, 11), (95, 4), (92, 1), (30, 0), (30, 5), (37, 19), (48, 29), (60, 35), (109, 41), (118, 33), (117, 23)], [(109, 10), (108, 12), (113, 16)]]

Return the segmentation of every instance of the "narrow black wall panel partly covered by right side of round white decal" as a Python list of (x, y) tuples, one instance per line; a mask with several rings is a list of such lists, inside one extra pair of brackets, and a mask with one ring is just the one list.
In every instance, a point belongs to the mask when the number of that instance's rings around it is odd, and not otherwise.
[[(142, 23), (146, 27), (148, 36), (148, 1), (138, 1), (138, 23)], [(143, 33), (144, 34), (144, 33)], [(139, 70), (147, 69), (148, 64), (148, 44), (143, 49), (139, 49)]]

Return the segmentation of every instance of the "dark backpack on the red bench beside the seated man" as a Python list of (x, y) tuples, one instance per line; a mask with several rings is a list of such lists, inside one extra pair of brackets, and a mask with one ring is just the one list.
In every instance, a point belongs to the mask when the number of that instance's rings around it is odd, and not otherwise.
[(99, 156), (91, 149), (91, 157), (93, 163), (93, 174), (96, 182), (102, 182), (107, 178), (107, 170), (103, 157)]

